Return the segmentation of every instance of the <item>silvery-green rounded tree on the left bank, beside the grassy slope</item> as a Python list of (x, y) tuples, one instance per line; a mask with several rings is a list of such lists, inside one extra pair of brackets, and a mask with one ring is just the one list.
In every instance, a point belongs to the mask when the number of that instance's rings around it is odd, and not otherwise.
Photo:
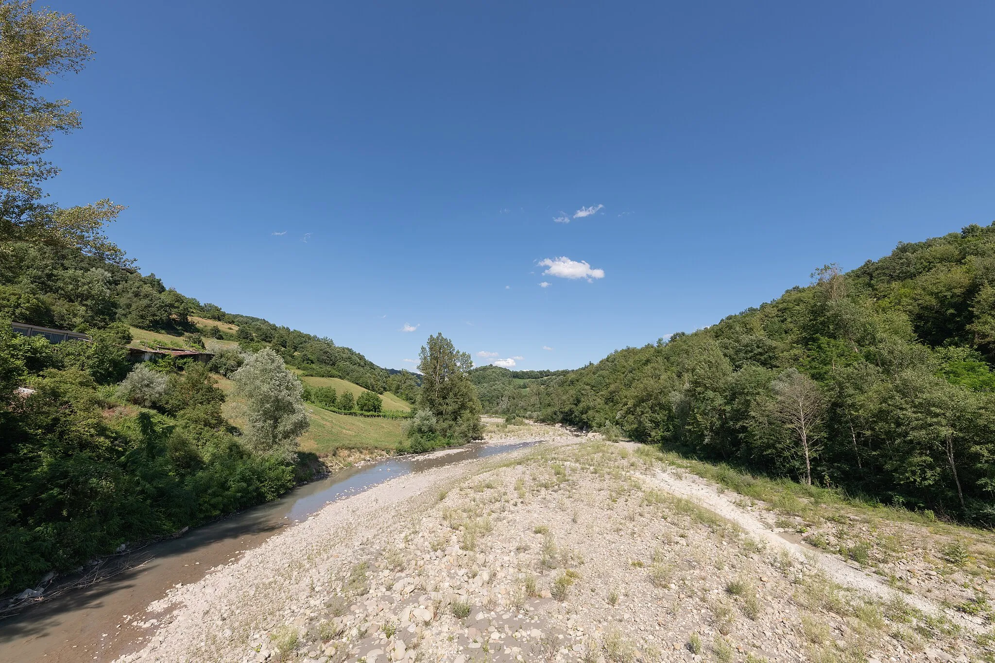
[(300, 398), (302, 387), (280, 355), (264, 348), (246, 359), (232, 376), (236, 393), (246, 399), (246, 439), (257, 453), (292, 460), (297, 439), (308, 425)]

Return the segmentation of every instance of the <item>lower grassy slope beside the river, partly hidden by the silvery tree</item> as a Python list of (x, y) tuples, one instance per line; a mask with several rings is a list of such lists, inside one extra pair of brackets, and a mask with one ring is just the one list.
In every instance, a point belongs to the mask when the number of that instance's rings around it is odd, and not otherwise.
[[(245, 425), (239, 400), (232, 397), (234, 384), (231, 380), (215, 376), (218, 387), (225, 392), (228, 401), (223, 411), (232, 423)], [(337, 381), (342, 382), (342, 381)], [(345, 383), (350, 385), (351, 383)], [(352, 385), (355, 387), (355, 385)], [(361, 389), (356, 387), (356, 389)], [(403, 439), (402, 421), (398, 419), (369, 418), (329, 413), (326, 410), (307, 405), (310, 428), (300, 436), (301, 451), (312, 451), (319, 456), (330, 455), (337, 449), (396, 449)]]

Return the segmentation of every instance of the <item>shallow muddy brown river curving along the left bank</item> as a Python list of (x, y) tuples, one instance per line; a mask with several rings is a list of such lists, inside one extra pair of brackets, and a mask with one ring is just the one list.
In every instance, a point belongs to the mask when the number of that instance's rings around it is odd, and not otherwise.
[[(208, 569), (239, 559), (242, 553), (324, 505), (398, 476), (535, 443), (471, 444), (349, 468), (178, 539), (115, 558), (113, 564), (128, 569), (0, 620), (0, 662), (112, 660), (137, 649), (155, 630), (130, 626), (129, 622), (150, 618), (144, 614), (145, 606), (164, 596), (167, 589), (177, 582), (189, 584), (202, 579)], [(73, 580), (78, 579), (64, 581)]]

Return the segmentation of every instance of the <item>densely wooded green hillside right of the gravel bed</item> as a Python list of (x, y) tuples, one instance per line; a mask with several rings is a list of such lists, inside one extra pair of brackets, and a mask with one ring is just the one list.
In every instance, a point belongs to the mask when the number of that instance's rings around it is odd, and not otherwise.
[(995, 523), (995, 224), (813, 278), (536, 386), (541, 416)]

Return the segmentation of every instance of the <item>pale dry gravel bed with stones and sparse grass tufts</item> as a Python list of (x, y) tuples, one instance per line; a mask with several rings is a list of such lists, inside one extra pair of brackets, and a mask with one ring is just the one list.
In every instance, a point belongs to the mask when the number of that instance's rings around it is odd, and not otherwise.
[(920, 573), (925, 526), (899, 524), (917, 548), (858, 561), (866, 514), (803, 517), (558, 428), (489, 437), (547, 441), (328, 505), (150, 606), (158, 630), (119, 660), (995, 660), (984, 592), (974, 614), (940, 597), (986, 590), (985, 572), (965, 552)]

